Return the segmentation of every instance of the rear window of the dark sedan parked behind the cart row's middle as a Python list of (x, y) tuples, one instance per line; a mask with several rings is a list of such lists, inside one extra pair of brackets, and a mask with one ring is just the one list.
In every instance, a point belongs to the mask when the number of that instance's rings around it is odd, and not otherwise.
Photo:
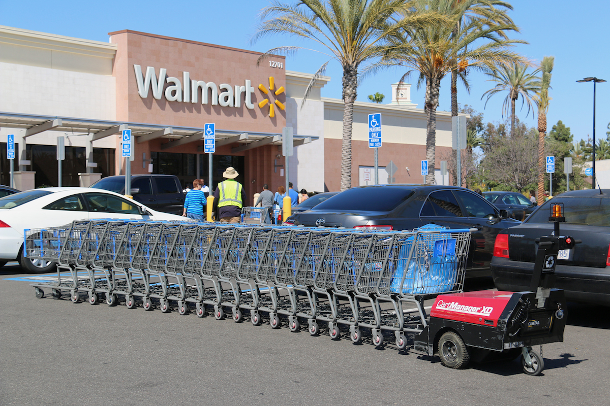
[(315, 209), (391, 211), (411, 197), (412, 194), (413, 191), (400, 187), (357, 187), (334, 195), (331, 199), (315, 206)]

